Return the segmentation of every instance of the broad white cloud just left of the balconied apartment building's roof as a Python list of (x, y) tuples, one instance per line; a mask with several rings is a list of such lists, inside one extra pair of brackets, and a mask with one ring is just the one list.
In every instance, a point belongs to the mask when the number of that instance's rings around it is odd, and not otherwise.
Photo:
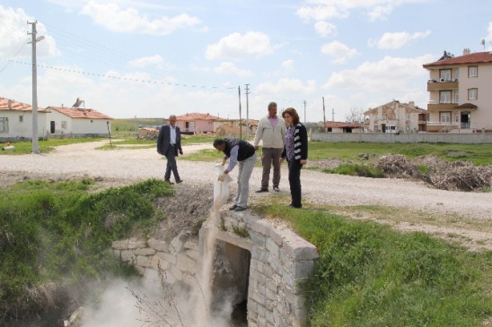
[[(366, 92), (381, 92), (384, 90), (407, 91), (407, 83), (413, 78), (428, 74), (422, 65), (435, 60), (435, 56), (417, 56), (415, 58), (400, 58), (384, 56), (378, 62), (365, 62), (355, 69), (347, 69), (333, 73), (322, 88), (365, 90)], [(398, 82), (397, 82), (398, 81)], [(425, 88), (425, 86), (422, 86)], [(390, 93), (391, 94), (391, 93)], [(389, 95), (394, 97), (395, 95)]]

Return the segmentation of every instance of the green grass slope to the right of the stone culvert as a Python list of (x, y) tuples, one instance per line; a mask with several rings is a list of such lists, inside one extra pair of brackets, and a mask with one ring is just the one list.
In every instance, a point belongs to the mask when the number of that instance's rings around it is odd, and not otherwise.
[(424, 233), (267, 204), (320, 258), (301, 284), (305, 326), (483, 326), (492, 316), (492, 252), (471, 253)]

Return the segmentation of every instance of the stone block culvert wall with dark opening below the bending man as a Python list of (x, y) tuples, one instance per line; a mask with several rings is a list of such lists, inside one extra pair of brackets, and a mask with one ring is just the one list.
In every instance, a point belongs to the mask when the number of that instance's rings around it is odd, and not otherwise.
[(180, 235), (170, 242), (154, 238), (116, 241), (112, 247), (145, 277), (154, 278), (160, 264), (166, 282), (195, 288), (209, 239), (216, 237), (214, 301), (229, 294), (236, 297), (232, 299), (235, 305), (245, 297), (252, 327), (300, 326), (306, 313), (298, 282), (312, 272), (318, 258), (316, 247), (274, 220), (248, 211), (223, 211), (219, 219), (215, 224), (207, 221), (198, 240)]

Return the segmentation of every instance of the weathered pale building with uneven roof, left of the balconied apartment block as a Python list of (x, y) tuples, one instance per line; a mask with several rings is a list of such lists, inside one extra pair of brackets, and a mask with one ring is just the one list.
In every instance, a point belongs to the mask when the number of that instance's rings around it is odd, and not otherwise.
[(413, 101), (398, 100), (372, 108), (364, 113), (365, 132), (417, 133), (426, 132), (427, 111), (415, 106)]

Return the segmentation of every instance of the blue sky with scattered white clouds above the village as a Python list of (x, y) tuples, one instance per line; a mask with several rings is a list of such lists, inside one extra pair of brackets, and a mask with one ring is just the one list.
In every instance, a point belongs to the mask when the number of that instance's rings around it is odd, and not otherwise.
[(322, 98), (336, 121), (392, 99), (426, 108), (422, 65), (492, 49), (489, 0), (2, 0), (0, 97), (31, 104), (34, 20), (39, 107), (80, 98), (115, 118), (237, 118), (238, 87), (243, 118), (276, 101), (322, 121)]

